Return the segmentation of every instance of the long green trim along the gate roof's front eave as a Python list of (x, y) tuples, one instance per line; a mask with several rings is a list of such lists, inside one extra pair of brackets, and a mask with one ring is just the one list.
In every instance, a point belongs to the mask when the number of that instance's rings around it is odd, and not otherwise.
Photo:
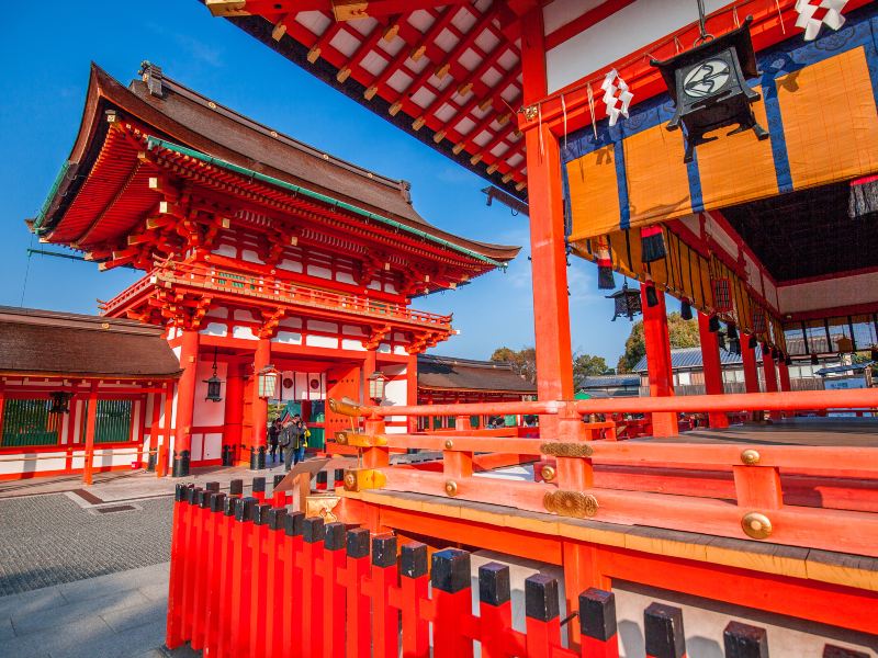
[[(361, 217), (367, 217), (372, 219), (373, 222), (380, 222), (382, 224), (386, 224), (387, 226), (392, 226), (399, 230), (404, 230), (408, 234), (418, 236), (420, 238), (427, 239), (431, 242), (437, 245), (441, 245), (448, 249), (452, 249), (453, 251), (458, 251), (470, 258), (474, 258), (482, 262), (488, 263), (494, 265), (495, 268), (503, 268), (506, 269), (506, 263), (496, 261), (492, 258), (483, 256), (472, 249), (466, 249), (465, 247), (461, 247), (459, 245), (454, 245), (443, 238), (438, 238), (428, 234), (425, 230), (420, 230), (419, 228), (414, 228), (401, 222), (396, 222), (395, 219), (391, 219), (390, 217), (384, 217), (383, 215), (378, 215), (376, 213), (372, 213), (359, 206), (352, 205), (350, 203), (346, 203), (344, 201), (339, 201), (338, 198), (333, 198), (331, 196), (327, 196), (326, 194), (320, 194), (319, 192), (314, 192), (312, 190), (307, 190), (306, 188), (301, 188), (293, 183), (288, 183), (286, 181), (282, 181), (271, 175), (267, 175), (264, 173), (259, 173), (258, 171), (254, 171), (252, 169), (247, 169), (246, 167), (240, 167), (238, 164), (233, 164), (232, 162), (227, 162), (226, 160), (222, 160), (219, 158), (214, 158), (213, 156), (209, 156), (207, 154), (203, 154), (201, 151), (196, 151), (191, 148), (187, 148), (184, 146), (180, 146), (179, 144), (173, 144), (172, 141), (166, 141), (165, 139), (159, 139), (158, 137), (147, 137), (146, 140), (147, 149), (151, 150), (155, 147), (165, 148), (168, 150), (176, 151), (183, 156), (189, 156), (190, 158), (194, 158), (195, 160), (201, 160), (202, 162), (207, 162), (209, 164), (214, 164), (216, 167), (221, 167), (223, 169), (227, 169), (229, 171), (234, 171), (235, 173), (240, 173), (243, 175), (249, 177), (251, 179), (261, 181), (263, 183), (269, 183), (271, 185), (277, 185), (278, 188), (282, 188), (284, 190), (289, 190), (291, 192), (295, 192), (296, 194), (302, 194), (303, 196), (308, 196), (311, 198), (315, 198), (323, 203), (329, 204), (334, 207), (342, 208), (348, 211), (349, 213), (353, 213), (354, 215), (360, 215)], [(60, 178), (59, 178), (60, 180)], [(57, 184), (56, 184), (57, 186)], [(50, 197), (50, 196), (49, 196)]]

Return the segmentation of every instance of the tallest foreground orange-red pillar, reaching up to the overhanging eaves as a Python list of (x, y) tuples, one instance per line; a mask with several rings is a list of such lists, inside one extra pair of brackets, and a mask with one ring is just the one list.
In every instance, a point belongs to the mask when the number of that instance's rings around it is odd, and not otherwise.
[[(531, 10), (521, 21), (521, 70), (524, 104), (530, 105), (548, 92), (542, 9)], [(570, 336), (567, 271), (564, 252), (564, 200), (561, 189), (561, 155), (547, 124), (534, 124), (525, 133), (530, 205), (530, 258), (537, 338), (537, 395), (541, 400), (573, 399), (573, 354)], [(560, 429), (554, 416), (540, 418), (543, 438), (555, 438)]]

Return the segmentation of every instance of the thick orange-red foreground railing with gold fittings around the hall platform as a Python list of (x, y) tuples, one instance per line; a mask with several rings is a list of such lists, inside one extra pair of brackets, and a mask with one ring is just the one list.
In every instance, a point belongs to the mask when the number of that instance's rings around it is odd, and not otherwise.
[[(365, 417), (364, 432), (344, 433), (339, 439), (362, 450), (363, 470), (381, 473), (380, 478), (362, 474), (346, 476), (346, 488), (350, 490), (357, 490), (358, 481), (383, 481), (383, 488), (391, 491), (878, 557), (878, 501), (875, 497), (867, 497), (869, 502), (858, 509), (788, 504), (785, 494), (789, 491), (785, 491), (786, 480), (781, 480), (781, 473), (785, 476), (817, 474), (834, 486), (844, 486), (853, 478), (854, 489), (864, 486), (868, 489), (869, 484), (875, 489), (878, 487), (877, 447), (772, 445), (767, 442), (706, 444), (687, 443), (685, 436), (671, 442), (616, 442), (593, 440), (595, 432), (588, 423), (582, 422), (582, 416), (590, 413), (876, 408), (878, 389), (424, 407), (368, 408), (339, 405), (335, 400), (330, 404), (339, 412)], [(453, 415), (464, 422), (469, 416), (479, 413), (539, 413), (541, 438), (539, 441), (484, 435), (446, 438), (386, 434), (383, 430), (382, 417), (390, 415)], [(766, 441), (770, 440), (766, 438)], [(391, 450), (410, 449), (440, 451), (442, 470), (389, 465)], [(473, 474), (473, 456), (491, 452), (529, 456), (543, 463), (551, 458), (554, 473), (545, 478), (551, 481), (487, 483)], [(632, 486), (633, 480), (626, 486), (623, 478), (612, 487), (597, 486), (596, 472), (610, 466), (651, 472), (655, 478), (662, 478), (668, 468), (682, 472), (683, 476), (687, 470), (731, 472), (733, 488), (718, 494), (712, 488), (700, 492), (690, 487), (687, 495), (682, 496), (661, 492), (661, 488), (638, 490)], [(856, 529), (856, 532), (845, 532), (845, 529)]]

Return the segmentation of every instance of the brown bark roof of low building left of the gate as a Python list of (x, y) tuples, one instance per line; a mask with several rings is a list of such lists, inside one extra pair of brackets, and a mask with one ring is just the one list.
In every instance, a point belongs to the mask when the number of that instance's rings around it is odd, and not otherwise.
[(0, 306), (0, 373), (171, 378), (180, 364), (160, 327)]

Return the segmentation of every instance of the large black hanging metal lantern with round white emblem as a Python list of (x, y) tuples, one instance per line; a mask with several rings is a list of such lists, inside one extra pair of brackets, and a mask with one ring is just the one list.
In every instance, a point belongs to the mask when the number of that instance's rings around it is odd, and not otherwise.
[(769, 136), (753, 114), (752, 105), (759, 100), (759, 94), (746, 82), (759, 75), (750, 37), (753, 16), (747, 16), (741, 27), (714, 38), (705, 31), (703, 3), (699, 0), (698, 4), (701, 14), (699, 45), (671, 59), (651, 61), (662, 72), (675, 99), (676, 113), (667, 129), (683, 126), (686, 135), (684, 162), (693, 161), (696, 146), (717, 139), (705, 135), (724, 126), (738, 124), (729, 135), (752, 129), (758, 139)]

